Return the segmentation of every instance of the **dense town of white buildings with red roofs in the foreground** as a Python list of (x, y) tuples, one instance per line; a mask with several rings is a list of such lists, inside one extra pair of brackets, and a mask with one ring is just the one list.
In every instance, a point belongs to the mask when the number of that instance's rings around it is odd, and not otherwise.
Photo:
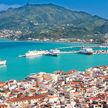
[(108, 66), (0, 81), (0, 108), (108, 108)]

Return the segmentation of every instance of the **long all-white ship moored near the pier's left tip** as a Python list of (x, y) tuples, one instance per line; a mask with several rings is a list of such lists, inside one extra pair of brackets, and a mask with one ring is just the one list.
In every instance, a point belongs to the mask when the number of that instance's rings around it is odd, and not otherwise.
[(40, 56), (42, 54), (45, 54), (46, 51), (37, 51), (37, 50), (34, 50), (34, 51), (28, 51), (27, 53), (25, 53), (25, 56), (26, 57), (32, 57), (32, 56)]

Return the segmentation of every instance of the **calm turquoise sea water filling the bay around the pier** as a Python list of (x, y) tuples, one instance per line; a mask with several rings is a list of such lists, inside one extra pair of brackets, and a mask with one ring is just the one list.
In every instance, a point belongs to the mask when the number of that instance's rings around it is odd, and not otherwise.
[[(108, 65), (108, 55), (81, 55), (61, 54), (58, 57), (17, 57), (29, 50), (49, 50), (57, 47), (72, 45), (89, 45), (79, 43), (54, 43), (54, 42), (17, 42), (7, 39), (0, 39), (0, 58), (7, 60), (6, 66), (0, 66), (0, 80), (9, 79), (23, 80), (27, 75), (38, 72), (52, 73), (56, 70), (69, 71), (76, 69), (83, 71), (86, 68), (97, 65)], [(79, 50), (79, 48), (65, 49)]]

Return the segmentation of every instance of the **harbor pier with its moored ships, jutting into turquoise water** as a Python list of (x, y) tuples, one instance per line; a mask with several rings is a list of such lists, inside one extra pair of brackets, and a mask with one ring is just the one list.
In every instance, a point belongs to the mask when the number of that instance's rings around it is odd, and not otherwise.
[[(80, 51), (71, 50), (71, 51), (60, 51), (61, 49), (66, 48), (81, 48)], [(101, 50), (93, 50), (92, 48), (100, 48)], [(93, 55), (93, 54), (108, 54), (108, 50), (102, 50), (102, 48), (108, 48), (107, 46), (71, 46), (71, 47), (59, 47), (55, 49), (47, 50), (34, 50), (34, 51), (28, 51), (24, 55), (19, 55), (18, 57), (31, 57), (31, 56), (39, 56), (39, 55), (52, 55), (52, 56), (58, 56), (59, 54), (87, 54), (87, 55)]]

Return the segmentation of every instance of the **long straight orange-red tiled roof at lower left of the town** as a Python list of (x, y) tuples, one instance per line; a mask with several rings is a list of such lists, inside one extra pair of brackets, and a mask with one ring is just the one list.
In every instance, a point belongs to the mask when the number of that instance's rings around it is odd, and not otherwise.
[(49, 92), (43, 93), (43, 94), (40, 94), (40, 95), (27, 96), (27, 97), (23, 97), (23, 98), (9, 99), (8, 101), (10, 101), (10, 102), (18, 102), (18, 101), (24, 101), (24, 100), (39, 99), (39, 98), (44, 98), (47, 95), (49, 95)]

